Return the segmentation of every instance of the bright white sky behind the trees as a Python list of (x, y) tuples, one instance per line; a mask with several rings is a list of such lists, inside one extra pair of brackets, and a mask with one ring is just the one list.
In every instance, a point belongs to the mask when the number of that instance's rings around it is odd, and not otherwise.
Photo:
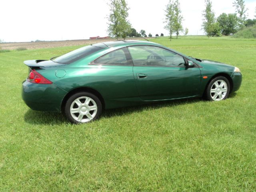
[[(126, 0), (129, 21), (146, 34), (168, 32), (164, 29), (164, 9), (169, 0)], [(234, 13), (234, 0), (212, 0), (215, 16)], [(107, 36), (108, 0), (4, 0), (0, 4), (0, 39), (4, 42), (35, 40), (75, 40)], [(256, 0), (245, 0), (248, 18), (254, 18)], [(183, 26), (189, 35), (201, 30), (204, 0), (180, 0)]]

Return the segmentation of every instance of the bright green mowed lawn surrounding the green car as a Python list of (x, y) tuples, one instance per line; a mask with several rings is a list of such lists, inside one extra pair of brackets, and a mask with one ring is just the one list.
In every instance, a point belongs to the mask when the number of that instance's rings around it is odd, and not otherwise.
[(221, 102), (107, 110), (74, 125), (24, 104), (23, 61), (81, 46), (0, 53), (0, 191), (256, 191), (256, 40), (152, 41), (237, 66), (240, 90)]

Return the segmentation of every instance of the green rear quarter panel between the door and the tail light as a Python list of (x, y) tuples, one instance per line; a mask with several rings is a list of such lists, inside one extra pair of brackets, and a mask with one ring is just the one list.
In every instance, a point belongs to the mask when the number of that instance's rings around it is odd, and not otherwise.
[[(117, 108), (134, 105), (140, 102), (134, 83), (133, 66), (97, 66), (89, 65), (83, 68), (64, 68), (63, 78), (51, 79), (54, 84), (66, 92), (76, 88), (92, 88), (104, 98), (105, 108)], [(47, 78), (47, 72), (45, 77)]]

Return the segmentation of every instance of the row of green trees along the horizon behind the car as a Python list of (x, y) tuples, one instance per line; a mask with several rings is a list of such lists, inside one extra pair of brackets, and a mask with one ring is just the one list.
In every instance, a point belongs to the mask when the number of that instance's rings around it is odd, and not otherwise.
[[(234, 0), (233, 6), (235, 7), (235, 13), (222, 13), (218, 18), (215, 17), (214, 10), (212, 9), (212, 1), (205, 0), (205, 5), (205, 10), (203, 10), (202, 13), (202, 29), (208, 37), (220, 36), (221, 34), (234, 34), (246, 26), (256, 24), (256, 19), (246, 20), (248, 8), (245, 7), (244, 0)], [(108, 34), (110, 36), (117, 39), (125, 39), (126, 37), (147, 37), (145, 30), (137, 32), (136, 29), (132, 28), (128, 20), (129, 8), (126, 0), (110, 0), (109, 6)], [(176, 38), (178, 38), (181, 32), (183, 32), (184, 35), (188, 34), (188, 28), (184, 29), (182, 26), (184, 18), (182, 16), (179, 0), (169, 0), (164, 16), (164, 28), (169, 32), (170, 40), (172, 39), (172, 34), (176, 34)], [(152, 34), (149, 33), (148, 36), (152, 37)], [(159, 35), (156, 34), (155, 36), (158, 37)], [(160, 36), (164, 36), (164, 34), (161, 33)]]

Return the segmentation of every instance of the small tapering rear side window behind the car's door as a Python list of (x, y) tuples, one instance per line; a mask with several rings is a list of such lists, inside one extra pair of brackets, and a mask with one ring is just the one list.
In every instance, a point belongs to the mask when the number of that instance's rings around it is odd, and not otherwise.
[(112, 52), (109, 52), (100, 58), (94, 60), (92, 64), (96, 65), (129, 65), (132, 66), (132, 60), (130, 58), (129, 52), (127, 48), (121, 48), (118, 50), (114, 50)]

